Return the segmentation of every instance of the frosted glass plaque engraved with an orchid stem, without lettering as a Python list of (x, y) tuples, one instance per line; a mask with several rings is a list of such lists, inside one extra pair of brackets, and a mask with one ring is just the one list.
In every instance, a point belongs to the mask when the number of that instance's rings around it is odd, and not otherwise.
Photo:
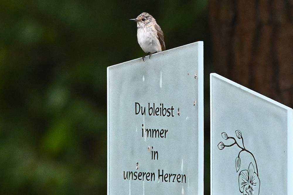
[(292, 109), (210, 75), (211, 194), (292, 195)]

